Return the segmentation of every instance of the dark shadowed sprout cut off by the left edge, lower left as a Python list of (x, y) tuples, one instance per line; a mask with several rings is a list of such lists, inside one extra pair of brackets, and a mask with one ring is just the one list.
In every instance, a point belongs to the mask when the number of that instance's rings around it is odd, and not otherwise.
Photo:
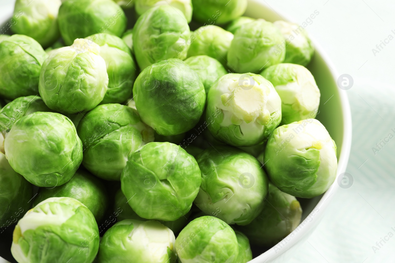
[(11, 168), (4, 153), (0, 153), (0, 171), (0, 230), (2, 232), (29, 210), (33, 187)]

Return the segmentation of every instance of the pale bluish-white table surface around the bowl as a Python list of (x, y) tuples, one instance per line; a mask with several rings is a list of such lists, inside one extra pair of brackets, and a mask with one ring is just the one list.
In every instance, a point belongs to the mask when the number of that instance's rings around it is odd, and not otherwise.
[[(0, 0), (0, 16), (12, 10), (12, 2)], [(340, 74), (354, 78), (354, 86), (342, 91), (348, 94), (352, 110), (347, 172), (354, 184), (337, 191), (318, 228), (289, 262), (395, 262), (395, 2), (262, 2), (299, 24), (318, 10), (308, 33)], [(378, 50), (376, 45), (389, 35), (394, 39)], [(373, 48), (379, 52), (374, 54)]]

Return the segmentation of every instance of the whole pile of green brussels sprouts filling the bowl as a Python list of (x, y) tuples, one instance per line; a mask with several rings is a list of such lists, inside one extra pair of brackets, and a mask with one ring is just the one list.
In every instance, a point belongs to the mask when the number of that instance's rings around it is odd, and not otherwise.
[(17, 262), (245, 263), (297, 228), (297, 198), (337, 170), (314, 49), (246, 6), (16, 1), (0, 37), (0, 231), (18, 221)]

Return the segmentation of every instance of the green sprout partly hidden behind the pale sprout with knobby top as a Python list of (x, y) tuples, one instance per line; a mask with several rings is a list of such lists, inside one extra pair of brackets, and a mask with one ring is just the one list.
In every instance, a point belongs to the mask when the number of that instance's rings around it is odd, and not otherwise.
[(136, 64), (126, 43), (115, 35), (95, 34), (86, 39), (100, 46), (100, 56), (107, 65), (108, 89), (101, 104), (122, 103), (132, 95)]

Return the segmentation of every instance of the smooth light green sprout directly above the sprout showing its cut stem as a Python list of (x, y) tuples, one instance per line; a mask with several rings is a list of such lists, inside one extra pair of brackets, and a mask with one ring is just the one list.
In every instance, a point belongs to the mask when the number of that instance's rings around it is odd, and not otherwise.
[(285, 39), (273, 23), (257, 19), (235, 32), (228, 51), (228, 65), (237, 73), (259, 73), (284, 61)]

